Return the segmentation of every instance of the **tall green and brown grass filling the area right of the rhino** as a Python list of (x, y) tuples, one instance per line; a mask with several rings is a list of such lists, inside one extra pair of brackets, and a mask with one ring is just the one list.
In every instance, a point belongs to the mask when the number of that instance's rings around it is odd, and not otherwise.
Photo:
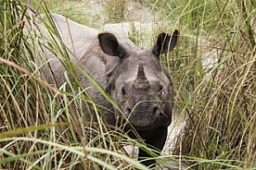
[(186, 114), (173, 154), (192, 169), (255, 168), (255, 3), (187, 1), (176, 9), (182, 31), (195, 41), (182, 44), (189, 57), (180, 60), (179, 49), (172, 58), (177, 103)]

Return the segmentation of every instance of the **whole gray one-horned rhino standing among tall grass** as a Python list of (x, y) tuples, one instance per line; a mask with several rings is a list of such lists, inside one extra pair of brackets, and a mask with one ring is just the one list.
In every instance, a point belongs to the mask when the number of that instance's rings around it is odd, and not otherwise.
[[(173, 36), (161, 33), (151, 49), (140, 50), (134, 42), (113, 32), (98, 32), (68, 20), (57, 14), (52, 15), (63, 42), (76, 57), (71, 61), (79, 65), (106, 90), (115, 103), (128, 118), (126, 130), (132, 126), (137, 130), (148, 146), (162, 150), (167, 127), (172, 122), (173, 87), (167, 71), (160, 65), (160, 54), (173, 50), (178, 31)], [(44, 27), (44, 26), (42, 26)], [(69, 33), (70, 32), (70, 33)], [(72, 41), (70, 41), (70, 37)], [(173, 38), (172, 38), (173, 37)], [(73, 42), (73, 44), (72, 44)], [(54, 55), (48, 58), (54, 58)], [(61, 85), (65, 68), (58, 59), (50, 62), (58, 84)], [(52, 82), (48, 68), (44, 69), (45, 77)], [(77, 71), (84, 88), (94, 87), (83, 74)], [(95, 88), (89, 88), (89, 95), (96, 103), (107, 108), (111, 104)], [(119, 125), (122, 116), (103, 111), (110, 125)], [(134, 134), (129, 134), (134, 137)], [(139, 150), (139, 157), (150, 157)], [(155, 164), (155, 161), (144, 161), (143, 164)]]

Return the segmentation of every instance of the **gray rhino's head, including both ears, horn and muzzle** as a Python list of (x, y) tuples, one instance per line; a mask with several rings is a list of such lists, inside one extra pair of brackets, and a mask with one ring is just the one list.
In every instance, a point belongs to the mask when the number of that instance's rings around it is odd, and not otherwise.
[(151, 49), (131, 48), (109, 32), (98, 35), (107, 59), (107, 91), (137, 130), (167, 127), (172, 121), (173, 86), (160, 55), (173, 50), (178, 37), (160, 33)]

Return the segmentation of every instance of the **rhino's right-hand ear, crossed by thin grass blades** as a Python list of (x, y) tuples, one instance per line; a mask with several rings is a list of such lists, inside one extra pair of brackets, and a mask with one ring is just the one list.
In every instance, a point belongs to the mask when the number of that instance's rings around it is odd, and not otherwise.
[(161, 54), (171, 52), (177, 43), (178, 35), (178, 30), (173, 31), (173, 36), (165, 32), (160, 33), (157, 42), (152, 47), (152, 53), (160, 56)]

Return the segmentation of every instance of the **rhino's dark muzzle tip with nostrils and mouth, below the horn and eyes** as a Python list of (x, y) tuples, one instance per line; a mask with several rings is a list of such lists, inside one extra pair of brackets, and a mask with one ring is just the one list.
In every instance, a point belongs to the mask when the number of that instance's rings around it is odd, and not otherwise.
[(135, 129), (155, 128), (155, 125), (159, 122), (161, 117), (160, 109), (158, 107), (154, 107), (147, 111), (138, 109), (134, 109), (134, 111), (132, 111), (127, 108), (124, 115)]

